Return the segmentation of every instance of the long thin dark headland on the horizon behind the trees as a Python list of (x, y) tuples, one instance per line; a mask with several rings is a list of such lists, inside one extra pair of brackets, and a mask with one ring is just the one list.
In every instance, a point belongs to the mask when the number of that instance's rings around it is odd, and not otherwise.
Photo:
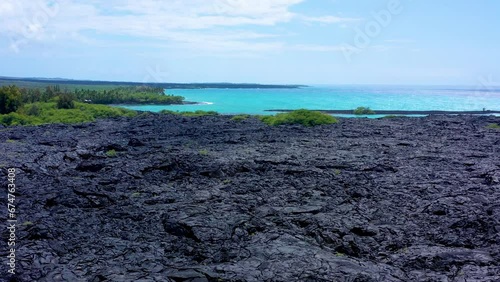
[(74, 86), (95, 86), (106, 88), (106, 86), (139, 86), (148, 85), (152, 87), (162, 87), (165, 89), (203, 89), (203, 88), (231, 88), (231, 89), (285, 89), (300, 88), (305, 85), (279, 85), (279, 84), (254, 84), (254, 83), (141, 83), (123, 81), (93, 81), (93, 80), (72, 80), (62, 78), (13, 78), (0, 77), (0, 86), (16, 84), (20, 87), (45, 87), (47, 85), (61, 85), (74, 88)]

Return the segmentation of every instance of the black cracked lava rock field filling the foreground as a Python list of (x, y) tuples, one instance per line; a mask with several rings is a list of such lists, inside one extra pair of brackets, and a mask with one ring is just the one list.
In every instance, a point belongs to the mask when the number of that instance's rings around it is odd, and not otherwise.
[(18, 186), (18, 274), (2, 263), (0, 278), (500, 281), (490, 123), (148, 114), (0, 127), (1, 181), (15, 167)]

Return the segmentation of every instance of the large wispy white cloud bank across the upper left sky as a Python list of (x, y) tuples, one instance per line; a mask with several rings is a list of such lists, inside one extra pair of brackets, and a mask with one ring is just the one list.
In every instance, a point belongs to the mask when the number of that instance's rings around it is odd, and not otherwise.
[(290, 11), (303, 1), (2, 0), (0, 35), (15, 38), (14, 42), (70, 40), (84, 44), (110, 43), (113, 36), (133, 36), (163, 41), (165, 46), (268, 51), (283, 48), (280, 35), (257, 32), (255, 27), (294, 20), (321, 24), (356, 20), (309, 17)]

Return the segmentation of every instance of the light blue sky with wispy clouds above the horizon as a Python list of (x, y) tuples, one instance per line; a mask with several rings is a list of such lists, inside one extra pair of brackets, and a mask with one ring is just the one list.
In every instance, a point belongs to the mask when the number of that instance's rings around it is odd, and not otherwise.
[(496, 0), (2, 0), (0, 76), (500, 85)]

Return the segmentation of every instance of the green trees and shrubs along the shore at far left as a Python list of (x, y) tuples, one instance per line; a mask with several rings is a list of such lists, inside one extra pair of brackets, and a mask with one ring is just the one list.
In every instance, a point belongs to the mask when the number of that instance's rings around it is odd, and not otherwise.
[[(91, 122), (98, 118), (135, 116), (132, 110), (98, 104), (178, 104), (183, 97), (163, 93), (150, 86), (118, 87), (110, 90), (68, 89), (59, 86), (18, 88), (0, 87), (0, 124), (39, 125), (45, 123)], [(195, 112), (201, 116), (213, 112)]]

